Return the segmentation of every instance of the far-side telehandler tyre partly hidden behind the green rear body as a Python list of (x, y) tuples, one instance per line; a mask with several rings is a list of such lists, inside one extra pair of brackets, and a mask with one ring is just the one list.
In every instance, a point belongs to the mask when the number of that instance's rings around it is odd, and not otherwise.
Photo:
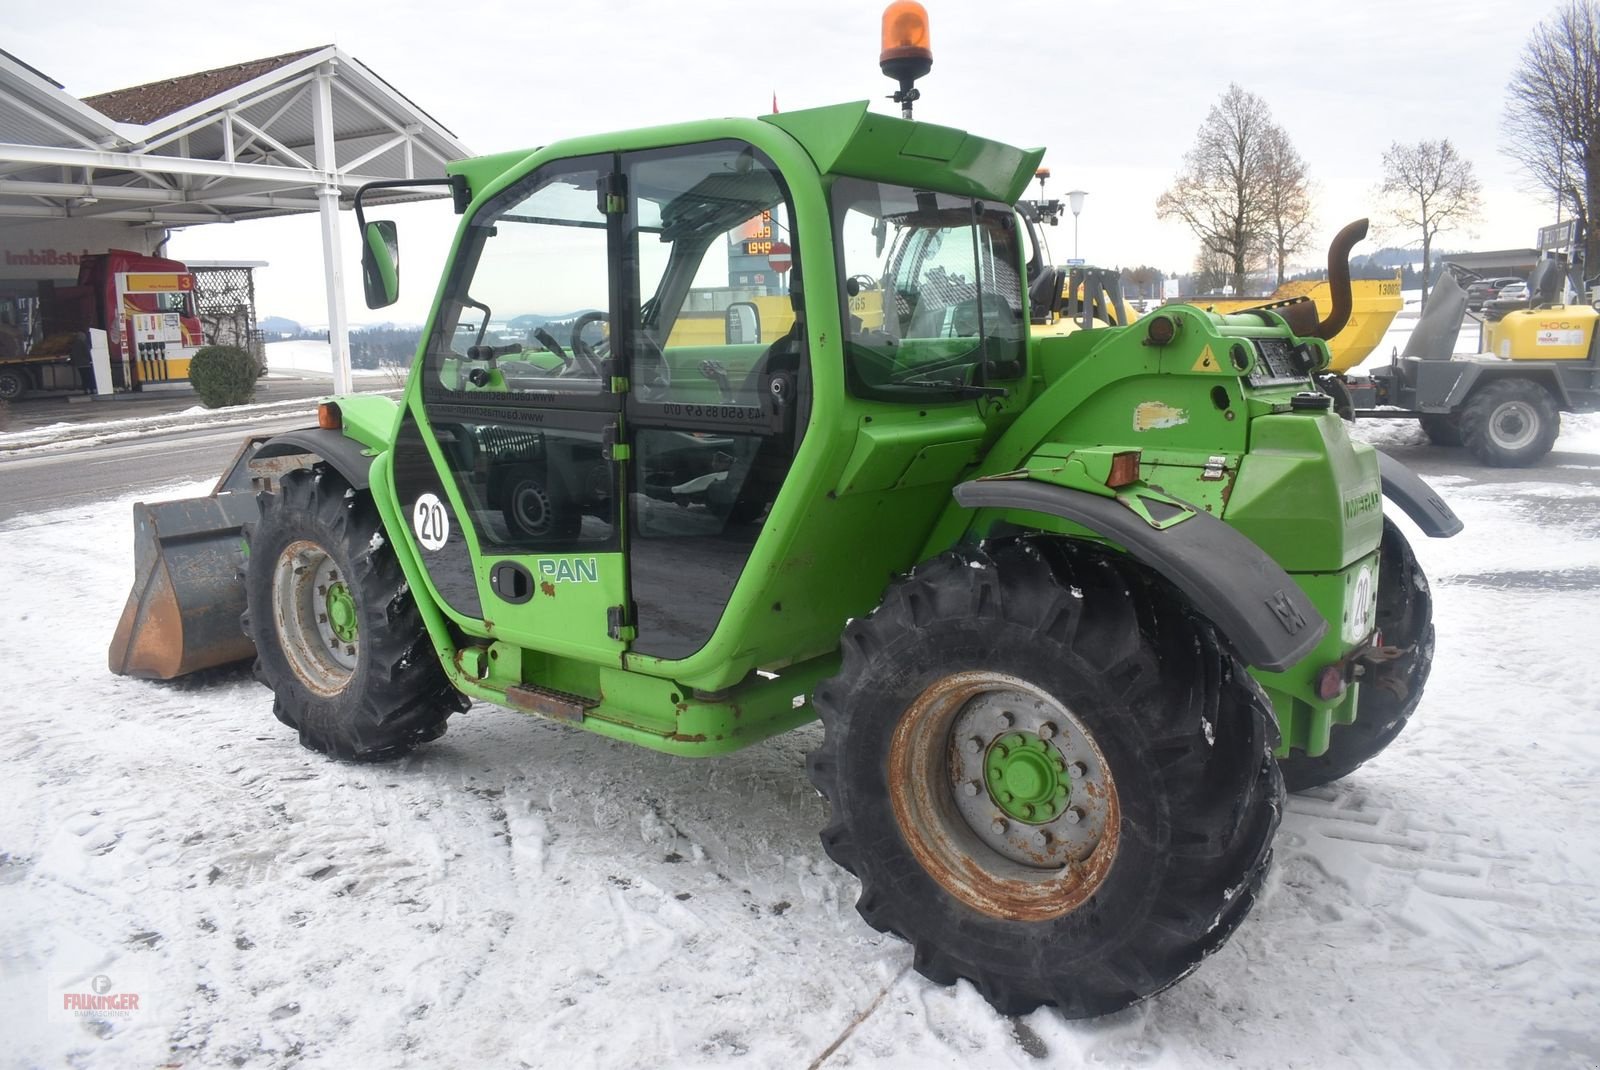
[(1355, 721), (1334, 725), (1328, 750), (1317, 758), (1291, 752), (1278, 758), (1290, 792), (1330, 784), (1355, 773), (1405, 729), (1422, 701), (1422, 686), (1434, 665), (1434, 598), (1427, 576), (1400, 528), (1384, 517), (1384, 541), (1378, 558), (1378, 630), (1384, 646), (1398, 657), (1379, 664), (1355, 701)]

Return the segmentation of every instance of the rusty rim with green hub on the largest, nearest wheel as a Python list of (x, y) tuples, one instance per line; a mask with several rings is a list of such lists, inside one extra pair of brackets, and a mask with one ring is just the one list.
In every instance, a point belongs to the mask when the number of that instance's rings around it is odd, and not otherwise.
[(1072, 710), (1018, 677), (934, 681), (894, 726), (888, 774), (912, 854), (981, 913), (1066, 915), (1117, 854), (1117, 787), (1099, 745)]

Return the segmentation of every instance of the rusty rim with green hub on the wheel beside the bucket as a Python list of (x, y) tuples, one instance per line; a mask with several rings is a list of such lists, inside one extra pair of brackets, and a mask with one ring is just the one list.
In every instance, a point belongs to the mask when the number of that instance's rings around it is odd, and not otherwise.
[(339, 566), (315, 542), (298, 539), (278, 553), (272, 569), (272, 608), (290, 669), (320, 696), (336, 696), (350, 677), (360, 637), (352, 621), (339, 616), (354, 609)]

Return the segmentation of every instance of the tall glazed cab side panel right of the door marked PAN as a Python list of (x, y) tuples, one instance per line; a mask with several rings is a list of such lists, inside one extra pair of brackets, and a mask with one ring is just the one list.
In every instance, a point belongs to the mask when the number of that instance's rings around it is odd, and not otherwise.
[(621, 170), (632, 649), (680, 661), (722, 625), (798, 448), (805, 302), (774, 262), (800, 250), (782, 176), (747, 142), (632, 152)]

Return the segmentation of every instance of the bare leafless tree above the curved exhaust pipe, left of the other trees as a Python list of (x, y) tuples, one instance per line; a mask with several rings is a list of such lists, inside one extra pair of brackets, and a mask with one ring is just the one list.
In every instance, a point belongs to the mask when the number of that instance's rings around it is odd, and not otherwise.
[(1155, 202), (1162, 219), (1182, 219), (1200, 238), (1200, 262), (1229, 266), (1234, 288), (1259, 264), (1267, 232), (1267, 139), (1275, 130), (1266, 101), (1237, 83), (1195, 134), (1171, 189)]

